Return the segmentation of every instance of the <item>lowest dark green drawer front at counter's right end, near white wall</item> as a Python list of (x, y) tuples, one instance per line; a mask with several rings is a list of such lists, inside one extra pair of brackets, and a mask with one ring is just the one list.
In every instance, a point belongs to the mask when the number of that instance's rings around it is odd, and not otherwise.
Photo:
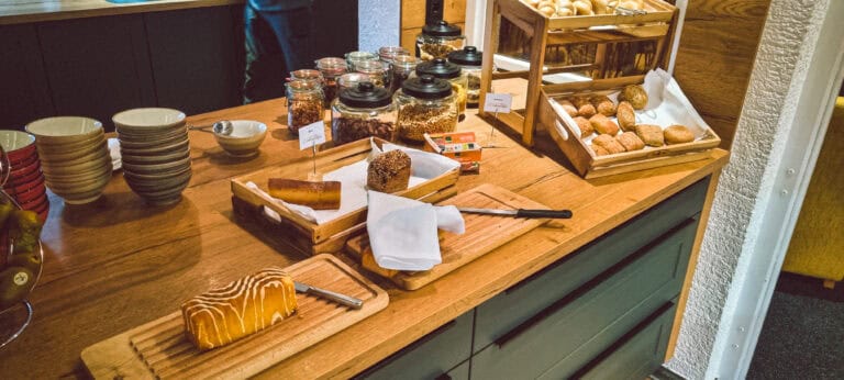
[[(590, 366), (582, 379), (645, 379), (663, 364), (677, 305), (671, 302), (655, 318), (632, 332), (629, 338)], [(579, 376), (576, 376), (579, 377)]]

